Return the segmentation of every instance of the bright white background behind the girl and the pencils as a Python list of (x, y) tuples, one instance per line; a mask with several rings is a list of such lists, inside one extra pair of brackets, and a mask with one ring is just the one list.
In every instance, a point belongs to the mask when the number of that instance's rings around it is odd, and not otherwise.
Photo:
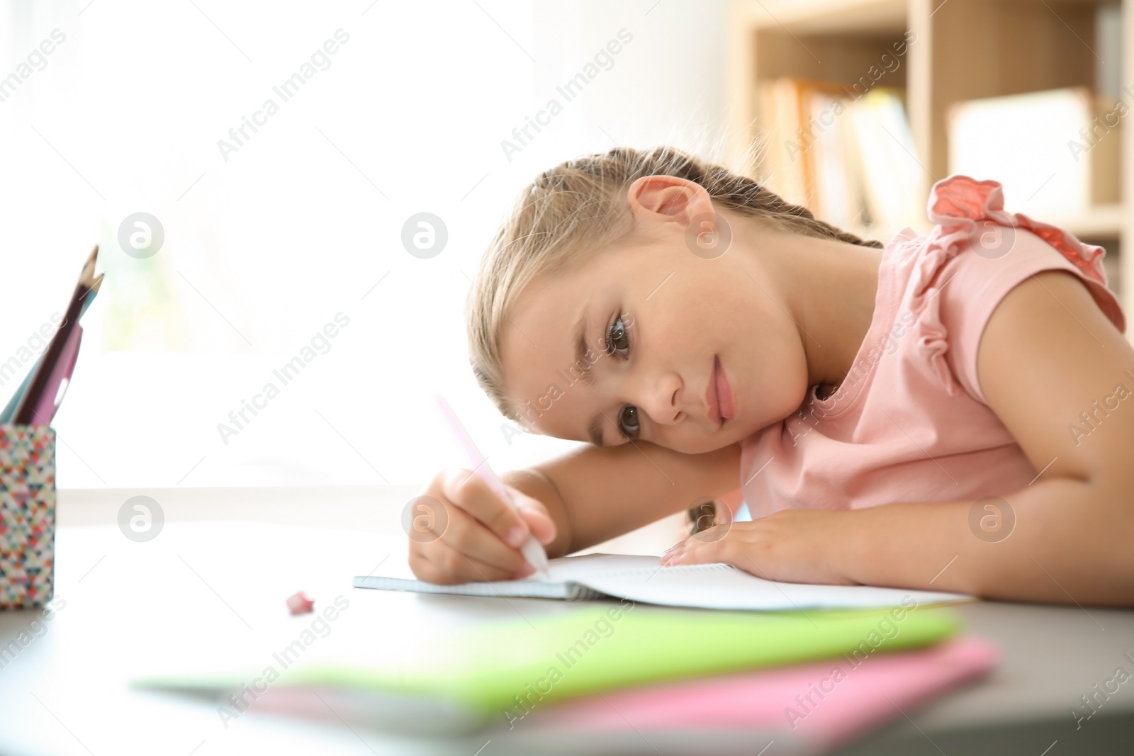
[[(420, 483), (460, 464), (434, 390), (498, 469), (569, 448), (507, 442), (467, 367), (466, 275), (556, 162), (719, 142), (725, 2), (194, 1), (0, 11), (0, 76), (66, 34), (0, 102), (0, 362), (64, 308), (94, 243), (107, 272), (54, 423), (60, 486)], [(274, 95), (339, 28), (330, 67)], [(508, 160), (501, 139), (621, 28), (610, 69)], [(218, 141), (269, 97), (279, 112), (226, 161)], [(147, 260), (117, 241), (138, 211), (166, 233)], [(449, 231), (430, 260), (400, 244), (422, 211)], [(272, 369), (337, 313), (349, 325), (282, 385)], [(218, 424), (268, 382), (279, 396), (226, 444)]]

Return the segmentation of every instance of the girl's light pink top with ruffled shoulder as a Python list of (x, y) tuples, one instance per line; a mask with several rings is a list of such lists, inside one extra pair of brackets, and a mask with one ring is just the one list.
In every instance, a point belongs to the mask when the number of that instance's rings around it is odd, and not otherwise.
[[(950, 176), (928, 203), (928, 237), (882, 252), (874, 315), (838, 390), (741, 442), (753, 518), (1002, 495), (1039, 473), (984, 402), (976, 350), (992, 311), (1033, 273), (1070, 271), (1125, 332), (1102, 247), (1004, 211), (997, 181)], [(1024, 377), (1024, 376), (1022, 376)]]

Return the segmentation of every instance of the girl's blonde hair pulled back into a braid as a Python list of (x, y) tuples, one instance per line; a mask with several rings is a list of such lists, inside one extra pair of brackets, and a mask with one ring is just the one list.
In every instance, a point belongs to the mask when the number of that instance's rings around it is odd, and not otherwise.
[(521, 192), (481, 261), (466, 303), (473, 373), (505, 417), (528, 426), (505, 397), (500, 341), (509, 307), (535, 278), (561, 272), (595, 250), (625, 241), (634, 231), (626, 190), (643, 176), (694, 181), (714, 205), (795, 233), (882, 246), (818, 220), (806, 207), (785, 202), (747, 176), (674, 147), (615, 147), (560, 163)]

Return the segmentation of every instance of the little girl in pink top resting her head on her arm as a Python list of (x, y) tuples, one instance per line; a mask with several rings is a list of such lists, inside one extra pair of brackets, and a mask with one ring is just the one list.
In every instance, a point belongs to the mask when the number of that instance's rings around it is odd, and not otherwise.
[[(743, 490), (753, 520), (663, 564), (771, 580), (1134, 603), (1134, 351), (1103, 249), (950, 176), (885, 247), (680, 151), (539, 176), (469, 295), (473, 371), (508, 418), (590, 442), (424, 491), (433, 583), (531, 575)], [(734, 499), (735, 500), (735, 499)], [(439, 518), (441, 519), (441, 518)]]

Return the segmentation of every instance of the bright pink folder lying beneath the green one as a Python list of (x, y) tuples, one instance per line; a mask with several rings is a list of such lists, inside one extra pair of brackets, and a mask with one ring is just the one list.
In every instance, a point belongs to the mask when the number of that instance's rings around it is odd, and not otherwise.
[(534, 708), (523, 727), (528, 734), (744, 730), (827, 748), (987, 673), (997, 659), (991, 643), (959, 638), (917, 651), (576, 698)]

